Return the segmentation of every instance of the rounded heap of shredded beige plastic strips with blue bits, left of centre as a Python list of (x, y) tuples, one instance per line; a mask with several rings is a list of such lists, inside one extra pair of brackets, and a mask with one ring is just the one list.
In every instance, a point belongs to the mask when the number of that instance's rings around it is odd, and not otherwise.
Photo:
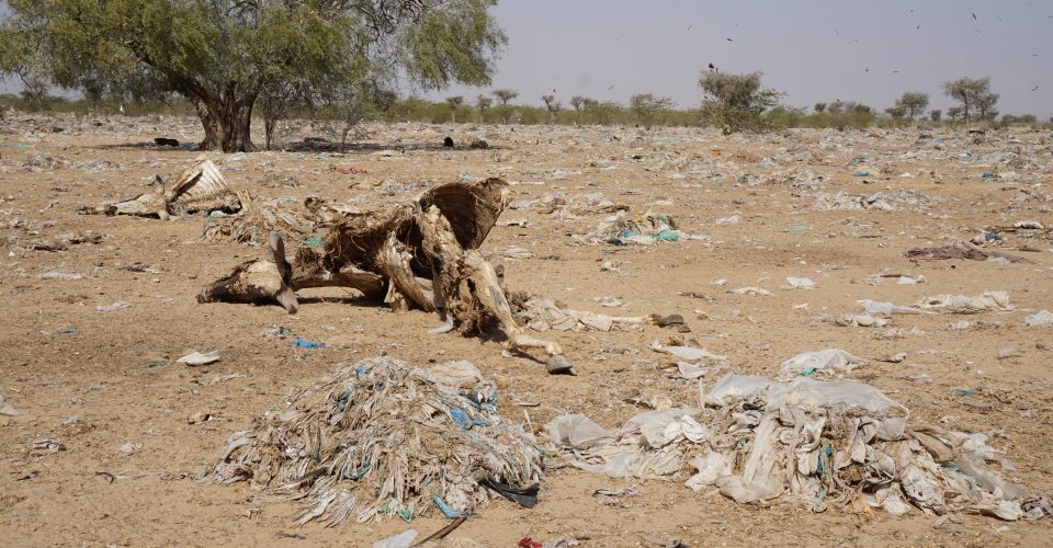
[(212, 477), (299, 501), (301, 524), (464, 515), (507, 496), (495, 486), (536, 493), (542, 453), (498, 414), (492, 381), (440, 378), (388, 357), (340, 369), (235, 433)]

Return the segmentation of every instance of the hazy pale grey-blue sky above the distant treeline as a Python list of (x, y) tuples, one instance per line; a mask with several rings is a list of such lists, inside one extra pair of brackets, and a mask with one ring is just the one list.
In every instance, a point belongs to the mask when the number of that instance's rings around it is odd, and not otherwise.
[(1053, 115), (1050, 0), (502, 0), (494, 13), (509, 38), (494, 85), (424, 96), (511, 88), (517, 102), (540, 105), (555, 89), (566, 105), (649, 92), (697, 106), (699, 73), (713, 62), (762, 71), (796, 106), (841, 99), (883, 110), (917, 90), (946, 107), (941, 82), (989, 76), (1001, 113)]

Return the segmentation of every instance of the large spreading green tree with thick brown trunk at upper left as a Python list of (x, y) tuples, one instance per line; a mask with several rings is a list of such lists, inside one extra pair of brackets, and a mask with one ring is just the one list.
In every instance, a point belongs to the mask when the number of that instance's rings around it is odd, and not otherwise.
[(489, 83), (506, 43), (488, 12), (494, 3), (9, 0), (0, 25), (16, 43), (41, 45), (41, 73), (53, 83), (121, 95), (129, 78), (143, 79), (194, 104), (201, 148), (248, 151), (253, 107), (275, 87), (306, 85), (331, 100), (396, 73), (432, 89)]

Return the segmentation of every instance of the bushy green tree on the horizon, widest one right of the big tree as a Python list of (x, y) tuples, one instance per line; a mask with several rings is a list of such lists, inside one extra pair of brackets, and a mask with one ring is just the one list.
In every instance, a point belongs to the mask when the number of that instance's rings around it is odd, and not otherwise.
[(760, 77), (760, 72), (703, 72), (699, 80), (704, 93), (702, 119), (731, 130), (766, 129), (762, 114), (779, 104), (779, 99), (784, 93), (761, 89)]

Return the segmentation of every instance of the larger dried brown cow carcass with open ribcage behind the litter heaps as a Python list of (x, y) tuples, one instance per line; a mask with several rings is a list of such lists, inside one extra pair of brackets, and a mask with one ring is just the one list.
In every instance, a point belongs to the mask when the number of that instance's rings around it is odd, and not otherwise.
[[(440, 333), (479, 329), (495, 319), (514, 350), (544, 349), (550, 370), (568, 372), (558, 344), (532, 338), (512, 317), (501, 281), (478, 248), (507, 205), (500, 179), (450, 183), (380, 212), (348, 212), (318, 249), (302, 248), (292, 264), (271, 238), (270, 258), (250, 261), (206, 287), (200, 302), (281, 304), (295, 311), (292, 290), (346, 287), (366, 298), (434, 311)], [(287, 277), (284, 273), (288, 273)], [(265, 278), (265, 279), (264, 279)]]

